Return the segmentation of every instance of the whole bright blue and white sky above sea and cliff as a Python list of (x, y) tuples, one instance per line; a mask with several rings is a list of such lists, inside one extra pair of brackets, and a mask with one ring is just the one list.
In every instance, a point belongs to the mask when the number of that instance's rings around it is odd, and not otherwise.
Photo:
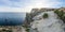
[(0, 12), (30, 12), (34, 7), (61, 7), (65, 0), (0, 0)]

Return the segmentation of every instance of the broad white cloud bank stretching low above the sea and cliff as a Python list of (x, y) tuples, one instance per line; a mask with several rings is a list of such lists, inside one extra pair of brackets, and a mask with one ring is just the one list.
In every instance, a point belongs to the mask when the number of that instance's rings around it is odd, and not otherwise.
[[(32, 7), (55, 7), (57, 4), (62, 4), (60, 1), (54, 0), (29, 0), (27, 2), (12, 2), (9, 0), (0, 0), (6, 3), (8, 6), (1, 6), (0, 12), (30, 12)], [(14, 7), (20, 6), (20, 7)]]

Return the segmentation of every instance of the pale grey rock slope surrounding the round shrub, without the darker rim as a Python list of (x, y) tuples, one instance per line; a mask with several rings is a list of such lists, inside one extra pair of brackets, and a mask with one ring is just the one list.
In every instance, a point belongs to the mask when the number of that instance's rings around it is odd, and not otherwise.
[[(46, 19), (42, 18), (44, 13), (49, 15)], [(40, 13), (32, 19), (30, 32), (64, 32), (64, 23), (53, 11)]]

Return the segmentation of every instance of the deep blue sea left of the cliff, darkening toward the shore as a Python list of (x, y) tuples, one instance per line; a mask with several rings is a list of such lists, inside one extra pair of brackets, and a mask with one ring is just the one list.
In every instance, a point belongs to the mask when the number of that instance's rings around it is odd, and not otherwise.
[(0, 13), (0, 26), (18, 26), (25, 20), (26, 13)]

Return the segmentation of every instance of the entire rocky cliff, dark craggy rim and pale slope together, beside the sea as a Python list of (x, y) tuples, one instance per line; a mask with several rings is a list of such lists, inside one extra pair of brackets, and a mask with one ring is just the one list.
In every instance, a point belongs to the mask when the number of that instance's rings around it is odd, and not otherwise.
[[(30, 32), (65, 32), (65, 25), (53, 11), (58, 9), (32, 9), (27, 14), (27, 22), (30, 25)], [(48, 13), (47, 19), (42, 18), (43, 13)], [(32, 19), (32, 20), (31, 20)], [(32, 22), (31, 22), (32, 21)]]

